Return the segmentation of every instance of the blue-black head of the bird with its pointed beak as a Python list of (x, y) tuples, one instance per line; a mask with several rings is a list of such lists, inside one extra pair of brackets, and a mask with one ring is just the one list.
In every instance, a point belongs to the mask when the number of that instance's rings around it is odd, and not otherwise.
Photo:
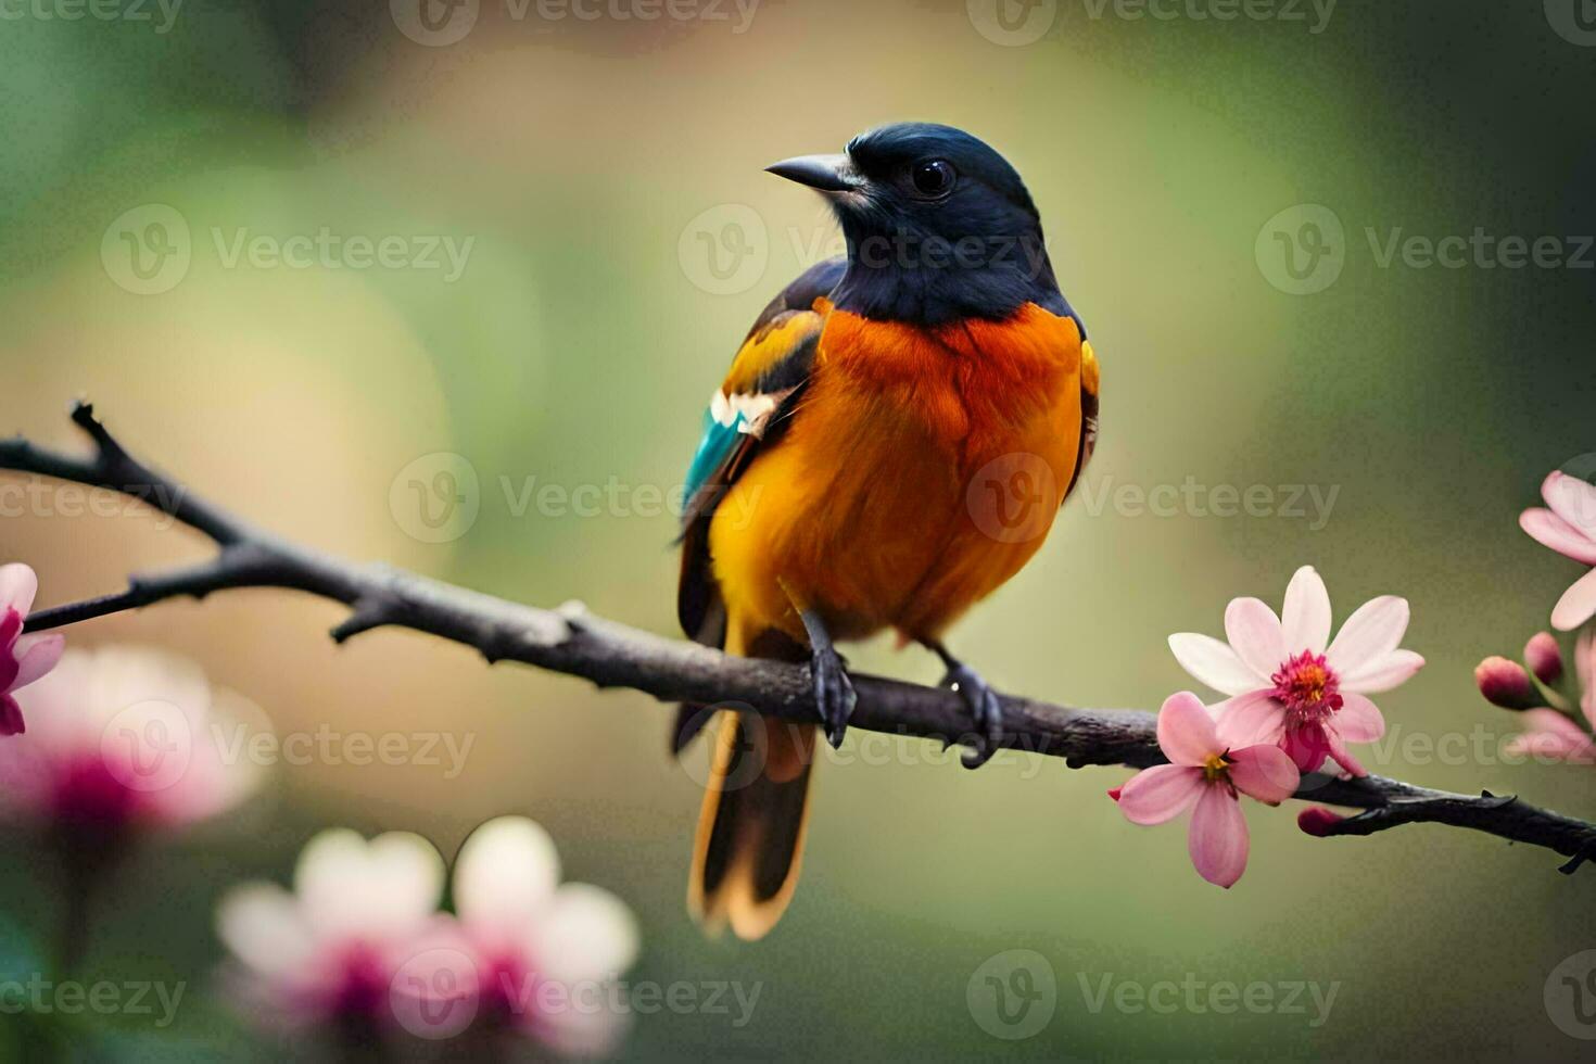
[(881, 126), (843, 155), (768, 169), (832, 201), (847, 239), (847, 273), (832, 297), (841, 309), (927, 325), (1001, 321), (1025, 303), (1068, 313), (1025, 182), (961, 129)]

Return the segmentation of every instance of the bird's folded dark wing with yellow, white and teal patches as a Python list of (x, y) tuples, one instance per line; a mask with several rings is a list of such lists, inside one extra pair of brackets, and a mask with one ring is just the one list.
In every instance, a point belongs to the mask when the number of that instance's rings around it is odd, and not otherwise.
[(780, 434), (803, 394), (825, 327), (814, 303), (832, 294), (846, 265), (830, 258), (811, 266), (764, 308), (704, 413), (681, 514), (677, 619), (688, 636), (707, 646), (721, 646), (726, 638), (726, 609), (709, 558), (710, 518), (760, 447)]

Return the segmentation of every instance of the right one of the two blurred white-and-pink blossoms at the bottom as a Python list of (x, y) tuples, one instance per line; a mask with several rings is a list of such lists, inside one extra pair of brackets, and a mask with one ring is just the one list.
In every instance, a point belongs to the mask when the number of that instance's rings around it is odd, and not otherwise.
[(559, 1053), (608, 1053), (626, 1015), (605, 987), (638, 951), (626, 903), (602, 887), (560, 884), (554, 841), (525, 817), (477, 828), (455, 861), (453, 885), (485, 1013)]

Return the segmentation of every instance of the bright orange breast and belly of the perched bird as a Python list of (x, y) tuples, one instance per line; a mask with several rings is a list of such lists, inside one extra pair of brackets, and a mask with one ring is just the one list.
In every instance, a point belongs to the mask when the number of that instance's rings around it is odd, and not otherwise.
[(1080, 333), (1037, 306), (921, 330), (832, 311), (785, 434), (717, 509), (733, 627), (935, 638), (1042, 546), (1080, 445)]

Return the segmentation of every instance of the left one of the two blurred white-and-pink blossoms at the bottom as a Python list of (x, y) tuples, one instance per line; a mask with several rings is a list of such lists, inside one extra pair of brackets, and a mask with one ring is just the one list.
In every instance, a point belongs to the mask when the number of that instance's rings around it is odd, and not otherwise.
[(300, 852), (292, 893), (243, 884), (217, 908), (241, 1003), (289, 1027), (389, 1019), (394, 978), (436, 930), (442, 892), (444, 860), (426, 839), (322, 831)]

